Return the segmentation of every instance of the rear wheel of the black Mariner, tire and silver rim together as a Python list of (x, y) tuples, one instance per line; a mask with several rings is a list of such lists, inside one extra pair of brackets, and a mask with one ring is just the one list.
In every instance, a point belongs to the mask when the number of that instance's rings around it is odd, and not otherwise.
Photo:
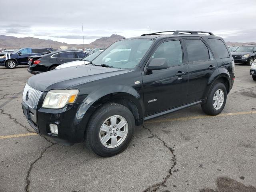
[(208, 115), (218, 115), (225, 107), (227, 91), (223, 83), (215, 84), (207, 97), (206, 103), (202, 105), (202, 110)]

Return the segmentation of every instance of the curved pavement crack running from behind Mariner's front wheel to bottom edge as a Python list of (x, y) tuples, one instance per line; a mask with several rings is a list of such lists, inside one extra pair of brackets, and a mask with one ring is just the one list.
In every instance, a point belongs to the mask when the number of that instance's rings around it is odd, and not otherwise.
[(152, 135), (152, 137), (155, 137), (155, 138), (157, 138), (158, 140), (162, 141), (163, 145), (164, 145), (166, 148), (168, 148), (168, 150), (170, 150), (170, 152), (172, 153), (172, 162), (173, 162), (173, 165), (172, 165), (171, 168), (168, 170), (168, 173), (169, 173), (169, 174), (166, 175), (166, 176), (163, 178), (164, 180), (163, 180), (162, 182), (156, 183), (156, 184), (154, 184), (154, 185), (152, 185), (152, 186), (150, 186), (150, 187), (148, 187), (148, 188), (146, 188), (146, 189), (144, 190), (144, 192), (156, 192), (156, 191), (160, 188), (160, 186), (163, 186), (163, 185), (166, 183), (167, 179), (170, 178), (170, 176), (172, 175), (172, 169), (173, 169), (174, 166), (176, 165), (176, 155), (174, 154), (174, 149), (171, 148), (171, 147), (168, 147), (167, 144), (166, 144), (166, 142), (165, 142), (164, 140), (160, 139), (160, 138), (158, 137), (158, 135), (153, 134), (152, 131), (151, 131), (149, 128), (146, 128), (144, 125), (142, 125), (142, 127), (143, 127), (144, 129), (148, 130), (149, 133)]

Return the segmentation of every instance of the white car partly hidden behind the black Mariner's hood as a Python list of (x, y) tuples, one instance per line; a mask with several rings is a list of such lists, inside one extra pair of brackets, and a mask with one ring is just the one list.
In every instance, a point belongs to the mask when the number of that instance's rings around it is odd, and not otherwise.
[(62, 68), (73, 67), (73, 66), (78, 66), (78, 65), (86, 65), (86, 64), (90, 63), (92, 60), (94, 60), (94, 58), (96, 58), (103, 51), (104, 50), (94, 52), (78, 61), (72, 61), (72, 62), (61, 64), (61, 65), (57, 66), (55, 69), (62, 69)]

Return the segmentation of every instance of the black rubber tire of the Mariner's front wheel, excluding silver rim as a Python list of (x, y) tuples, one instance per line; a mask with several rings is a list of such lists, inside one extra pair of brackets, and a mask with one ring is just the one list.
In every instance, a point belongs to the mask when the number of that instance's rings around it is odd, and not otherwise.
[[(128, 124), (128, 132), (123, 142), (114, 148), (108, 148), (100, 141), (100, 128), (106, 119), (112, 116), (122, 116)], [(132, 112), (123, 105), (107, 103), (100, 106), (90, 118), (86, 128), (86, 146), (99, 156), (110, 157), (122, 152), (130, 143), (135, 129)], [(109, 134), (112, 132), (109, 132)], [(116, 132), (117, 133), (117, 132)], [(106, 134), (107, 135), (107, 134)], [(112, 139), (111, 139), (112, 142)]]

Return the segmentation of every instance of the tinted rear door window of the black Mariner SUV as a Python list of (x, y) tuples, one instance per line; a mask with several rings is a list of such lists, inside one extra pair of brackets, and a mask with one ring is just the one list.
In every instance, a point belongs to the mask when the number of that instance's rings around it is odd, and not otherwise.
[(209, 51), (202, 40), (186, 40), (188, 61), (202, 61), (209, 59)]

